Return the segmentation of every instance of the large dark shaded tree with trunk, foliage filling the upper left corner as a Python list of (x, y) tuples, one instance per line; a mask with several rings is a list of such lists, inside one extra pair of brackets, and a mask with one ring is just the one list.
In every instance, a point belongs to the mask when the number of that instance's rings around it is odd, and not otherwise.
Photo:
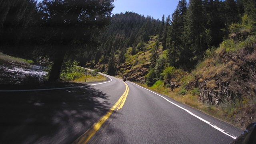
[(0, 50), (53, 62), (49, 81), (60, 77), (64, 61), (100, 45), (114, 0), (1, 0)]

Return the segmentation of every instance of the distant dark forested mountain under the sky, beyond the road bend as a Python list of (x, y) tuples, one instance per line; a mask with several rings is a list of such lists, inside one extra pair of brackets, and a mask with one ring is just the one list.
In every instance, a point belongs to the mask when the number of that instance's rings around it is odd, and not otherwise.
[(81, 64), (90, 62), (90, 66), (96, 65), (99, 60), (107, 63), (112, 52), (125, 53), (127, 48), (147, 42), (149, 36), (158, 34), (162, 27), (160, 20), (150, 16), (145, 17), (134, 12), (115, 14), (105, 32), (100, 35), (100, 46), (97, 50), (83, 53), (79, 61)]

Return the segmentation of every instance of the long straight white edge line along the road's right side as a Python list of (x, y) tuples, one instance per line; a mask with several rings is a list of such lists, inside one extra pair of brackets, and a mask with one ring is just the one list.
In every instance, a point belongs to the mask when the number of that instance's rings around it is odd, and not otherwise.
[[(132, 82), (132, 83), (133, 83), (133, 82)], [(133, 83), (133, 84), (135, 84), (135, 83)], [(136, 85), (139, 86), (138, 84), (136, 84)], [(139, 86), (139, 87), (143, 88), (142, 86)], [(148, 90), (148, 89), (146, 89), (146, 88), (144, 88), (144, 89), (145, 89), (145, 90)], [(152, 92), (151, 90), (148, 90), (148, 91)], [(152, 92), (152, 93), (156, 94), (155, 92)], [(159, 94), (156, 94), (156, 95), (161, 96), (161, 95), (159, 95)], [(161, 97), (164, 98), (163, 96), (161, 96)], [(236, 138), (237, 138), (236, 136), (232, 136), (232, 135), (228, 134), (227, 132), (225, 132), (225, 130), (222, 130), (222, 129), (219, 128), (218, 126), (215, 126), (214, 124), (208, 122), (207, 120), (204, 120), (203, 118), (201, 118), (201, 117), (199, 117), (199, 116), (193, 114), (193, 113), (190, 112), (189, 110), (187, 110), (187, 109), (185, 109), (185, 108), (182, 108), (182, 107), (179, 106), (178, 104), (175, 104), (175, 103), (171, 102), (171, 101), (168, 100), (167, 98), (164, 98), (164, 99), (165, 99), (166, 101), (170, 102), (171, 104), (173, 104), (173, 105), (175, 105), (175, 106), (181, 108), (182, 110), (185, 110), (186, 112), (188, 112), (188, 113), (191, 114), (192, 116), (198, 118), (199, 120), (202, 120), (202, 121), (205, 122), (206, 124), (209, 124), (210, 126), (212, 126), (213, 128), (215, 128), (216, 130), (222, 132), (223, 134), (226, 134), (227, 136), (230, 136), (230, 137), (233, 138), (233, 139), (236, 139)]]

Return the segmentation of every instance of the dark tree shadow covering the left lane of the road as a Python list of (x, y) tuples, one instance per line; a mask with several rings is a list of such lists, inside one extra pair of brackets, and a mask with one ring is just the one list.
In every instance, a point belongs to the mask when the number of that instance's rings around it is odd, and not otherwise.
[(0, 92), (0, 143), (72, 143), (113, 104), (92, 86)]

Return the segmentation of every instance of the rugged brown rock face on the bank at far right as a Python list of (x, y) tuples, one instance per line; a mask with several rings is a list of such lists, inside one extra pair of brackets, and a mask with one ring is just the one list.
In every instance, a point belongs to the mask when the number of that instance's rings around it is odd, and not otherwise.
[[(218, 106), (236, 100), (252, 99), (256, 94), (256, 46), (245, 48), (238, 53), (223, 51), (220, 60), (222, 70), (214, 76), (197, 75), (195, 87), (200, 89), (200, 100)], [(208, 67), (208, 66), (207, 66)]]

